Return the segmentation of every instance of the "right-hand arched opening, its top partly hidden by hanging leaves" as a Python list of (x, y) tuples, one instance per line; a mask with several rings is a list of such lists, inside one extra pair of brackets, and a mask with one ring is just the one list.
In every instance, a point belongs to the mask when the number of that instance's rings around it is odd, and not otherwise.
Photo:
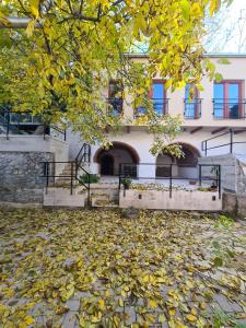
[(198, 157), (200, 157), (199, 151), (187, 143), (179, 143), (184, 157), (176, 159), (169, 154), (159, 154), (156, 157), (156, 177), (168, 177), (171, 176), (171, 164), (172, 174), (174, 177), (197, 179), (198, 178)]

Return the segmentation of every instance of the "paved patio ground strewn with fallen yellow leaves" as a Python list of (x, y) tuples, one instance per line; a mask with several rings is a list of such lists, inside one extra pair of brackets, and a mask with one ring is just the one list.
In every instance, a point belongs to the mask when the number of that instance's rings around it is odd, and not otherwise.
[(1, 327), (246, 327), (246, 222), (0, 210)]

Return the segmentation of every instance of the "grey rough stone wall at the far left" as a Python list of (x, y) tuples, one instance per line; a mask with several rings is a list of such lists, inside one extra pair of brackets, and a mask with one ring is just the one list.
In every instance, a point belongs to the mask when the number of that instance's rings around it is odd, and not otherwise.
[(44, 161), (49, 152), (0, 152), (0, 203), (43, 203)]

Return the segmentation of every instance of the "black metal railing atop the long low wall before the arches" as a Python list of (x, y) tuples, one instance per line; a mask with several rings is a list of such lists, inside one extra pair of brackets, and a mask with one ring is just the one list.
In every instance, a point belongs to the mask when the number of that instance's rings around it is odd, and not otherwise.
[[(133, 175), (129, 174), (130, 166), (132, 167), (131, 172), (134, 172)], [(207, 187), (210, 186), (211, 190), (218, 191), (219, 198), (221, 198), (221, 165), (199, 164), (197, 166), (190, 166), (184, 164), (121, 163), (119, 165), (119, 191), (121, 186), (124, 186), (125, 178), (130, 178), (137, 183), (143, 180), (153, 183), (154, 185), (167, 181), (164, 187), (168, 188), (171, 198), (173, 190), (176, 189), (174, 185), (175, 181), (179, 184), (181, 181), (189, 181), (190, 185), (197, 184), (199, 187), (204, 185)], [(180, 186), (184, 187), (184, 184)], [(159, 188), (159, 186), (156, 186), (156, 188)]]

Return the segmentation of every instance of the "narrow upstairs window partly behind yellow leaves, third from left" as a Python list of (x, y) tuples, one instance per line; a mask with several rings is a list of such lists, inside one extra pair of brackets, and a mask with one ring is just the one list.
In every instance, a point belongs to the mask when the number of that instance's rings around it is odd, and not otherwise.
[(196, 119), (200, 115), (201, 99), (199, 98), (199, 91), (196, 86), (188, 83), (185, 87), (185, 118)]

